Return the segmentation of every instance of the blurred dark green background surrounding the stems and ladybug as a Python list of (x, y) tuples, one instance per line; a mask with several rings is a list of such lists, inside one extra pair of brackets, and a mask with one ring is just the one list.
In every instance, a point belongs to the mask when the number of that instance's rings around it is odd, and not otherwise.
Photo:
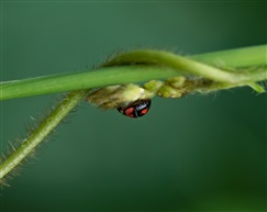
[[(267, 43), (266, 1), (2, 1), (1, 80), (79, 71), (118, 49)], [(60, 94), (1, 102), (1, 152)], [(0, 190), (1, 211), (265, 211), (267, 96), (155, 98), (138, 120), (84, 102)]]

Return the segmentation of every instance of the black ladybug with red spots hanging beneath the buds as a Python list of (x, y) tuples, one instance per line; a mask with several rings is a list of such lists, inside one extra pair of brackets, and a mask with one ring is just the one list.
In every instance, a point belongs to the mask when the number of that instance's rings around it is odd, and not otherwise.
[(129, 118), (141, 118), (148, 112), (151, 104), (151, 100), (137, 100), (126, 107), (119, 107), (116, 110)]

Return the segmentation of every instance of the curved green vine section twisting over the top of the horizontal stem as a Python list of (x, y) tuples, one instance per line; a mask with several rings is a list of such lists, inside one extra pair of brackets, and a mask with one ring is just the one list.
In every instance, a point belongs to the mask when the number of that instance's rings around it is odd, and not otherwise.
[[(263, 62), (264, 64), (265, 62)], [(227, 83), (244, 83), (252, 81), (264, 80), (263, 69), (256, 69), (253, 72), (231, 72), (221, 70), (216, 67), (201, 64), (173, 53), (159, 52), (159, 51), (132, 51), (116, 56), (103, 64), (103, 66), (114, 66), (124, 64), (145, 64), (145, 65), (158, 65), (168, 68), (174, 68), (180, 74), (193, 75), (211, 79), (219, 82)]]

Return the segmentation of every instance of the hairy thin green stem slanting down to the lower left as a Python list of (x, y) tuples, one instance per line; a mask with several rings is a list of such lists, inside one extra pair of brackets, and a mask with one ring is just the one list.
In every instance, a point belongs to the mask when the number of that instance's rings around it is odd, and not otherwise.
[(29, 156), (35, 147), (62, 122), (62, 120), (86, 97), (87, 90), (70, 92), (47, 118), (32, 132), (32, 134), (23, 141), (21, 146), (16, 148), (0, 165), (0, 182), (3, 177), (12, 171)]

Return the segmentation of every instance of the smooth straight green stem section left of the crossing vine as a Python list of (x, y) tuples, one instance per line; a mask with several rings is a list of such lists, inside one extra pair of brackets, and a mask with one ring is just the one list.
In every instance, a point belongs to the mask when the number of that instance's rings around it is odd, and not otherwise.
[(36, 77), (0, 83), (0, 100), (37, 94), (90, 89), (115, 83), (130, 83), (178, 76), (174, 69), (160, 67), (105, 67), (93, 71)]

